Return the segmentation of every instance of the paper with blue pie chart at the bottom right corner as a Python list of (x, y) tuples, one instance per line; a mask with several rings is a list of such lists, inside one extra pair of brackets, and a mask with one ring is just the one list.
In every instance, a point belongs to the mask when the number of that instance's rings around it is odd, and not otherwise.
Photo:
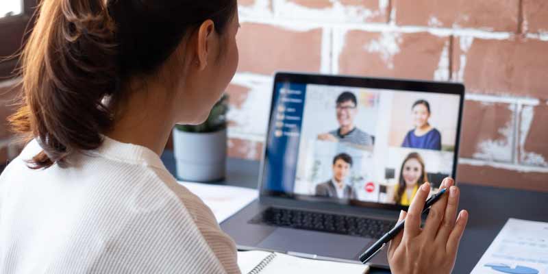
[(548, 223), (508, 219), (471, 274), (548, 274)]

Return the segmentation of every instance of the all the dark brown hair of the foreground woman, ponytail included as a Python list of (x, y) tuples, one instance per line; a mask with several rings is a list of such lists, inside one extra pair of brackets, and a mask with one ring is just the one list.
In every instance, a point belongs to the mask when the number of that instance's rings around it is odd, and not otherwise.
[[(10, 123), (43, 151), (32, 169), (96, 149), (112, 128), (130, 79), (160, 71), (208, 19), (222, 35), (236, 0), (42, 0), (21, 53), (23, 95)], [(106, 105), (108, 101), (108, 105)]]

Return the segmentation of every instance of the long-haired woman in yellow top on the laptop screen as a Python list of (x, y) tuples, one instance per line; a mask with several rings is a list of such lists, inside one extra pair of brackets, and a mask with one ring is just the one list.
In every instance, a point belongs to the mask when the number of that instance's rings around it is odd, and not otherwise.
[(412, 152), (401, 163), (398, 184), (395, 186), (392, 199), (393, 203), (401, 206), (409, 206), (419, 190), (419, 185), (427, 182), (428, 177), (424, 160), (419, 153)]

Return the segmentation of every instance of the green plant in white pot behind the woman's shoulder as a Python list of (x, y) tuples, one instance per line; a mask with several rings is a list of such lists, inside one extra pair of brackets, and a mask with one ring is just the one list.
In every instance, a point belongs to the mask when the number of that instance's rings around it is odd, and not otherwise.
[(228, 96), (213, 106), (208, 119), (200, 125), (176, 125), (173, 150), (177, 178), (192, 182), (224, 179), (227, 155)]

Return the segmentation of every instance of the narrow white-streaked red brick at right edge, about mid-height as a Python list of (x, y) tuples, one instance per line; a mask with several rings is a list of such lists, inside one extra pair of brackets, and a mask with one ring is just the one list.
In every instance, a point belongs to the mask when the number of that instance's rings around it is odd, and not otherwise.
[(548, 166), (548, 105), (524, 106), (519, 125), (520, 163)]

